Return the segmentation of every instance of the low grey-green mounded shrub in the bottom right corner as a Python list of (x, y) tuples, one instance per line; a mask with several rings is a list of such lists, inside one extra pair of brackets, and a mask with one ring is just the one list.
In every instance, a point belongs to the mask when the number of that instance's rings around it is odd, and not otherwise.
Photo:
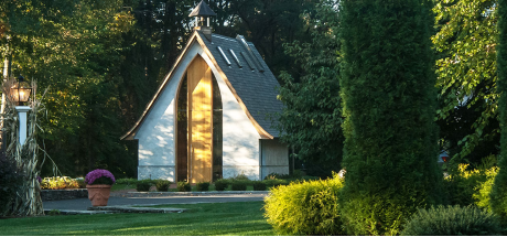
[(419, 209), (401, 236), (500, 236), (497, 216), (477, 207), (438, 206)]

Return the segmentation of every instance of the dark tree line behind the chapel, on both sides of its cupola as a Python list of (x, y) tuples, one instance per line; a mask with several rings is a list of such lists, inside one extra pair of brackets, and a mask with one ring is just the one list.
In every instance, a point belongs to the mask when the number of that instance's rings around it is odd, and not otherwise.
[[(254, 42), (276, 75), (294, 72), (283, 43), (310, 39), (300, 14), (315, 0), (209, 1), (215, 33)], [(191, 0), (7, 0), (0, 52), (10, 76), (36, 79), (47, 115), (40, 143), (64, 175), (95, 168), (137, 175), (137, 143), (121, 141), (186, 44)], [(39, 95), (42, 96), (42, 95)], [(43, 174), (52, 175), (51, 165)]]

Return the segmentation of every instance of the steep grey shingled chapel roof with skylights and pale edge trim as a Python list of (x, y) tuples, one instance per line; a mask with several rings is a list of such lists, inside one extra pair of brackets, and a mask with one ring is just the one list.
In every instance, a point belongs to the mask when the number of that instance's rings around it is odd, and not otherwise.
[(133, 139), (144, 117), (171, 79), (172, 72), (179, 66), (181, 58), (194, 41), (197, 41), (205, 52), (211, 54), (216, 68), (225, 77), (224, 80), (259, 134), (267, 139), (278, 137), (278, 130), (274, 128), (277, 119), (270, 119), (270, 117), (276, 118), (276, 114), (282, 110), (282, 103), (277, 99), (277, 87), (280, 84), (254, 44), (247, 42), (241, 35), (233, 39), (212, 34), (212, 41), (208, 41), (201, 31), (194, 31), (185, 50), (159, 87), (153, 99), (148, 104), (141, 118), (121, 139)]

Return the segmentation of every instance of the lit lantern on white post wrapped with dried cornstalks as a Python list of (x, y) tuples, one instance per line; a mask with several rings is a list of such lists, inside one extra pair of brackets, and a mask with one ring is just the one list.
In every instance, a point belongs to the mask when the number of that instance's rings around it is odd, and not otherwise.
[(30, 94), (32, 93), (32, 88), (30, 84), (24, 82), (24, 77), (19, 76), (18, 83), (14, 83), (14, 86), (11, 87), (11, 98), (18, 105), (15, 110), (18, 111), (18, 116), (20, 119), (20, 144), (23, 146), (24, 141), (26, 141), (26, 112), (30, 111), (30, 106), (23, 106), (25, 103), (29, 101)]

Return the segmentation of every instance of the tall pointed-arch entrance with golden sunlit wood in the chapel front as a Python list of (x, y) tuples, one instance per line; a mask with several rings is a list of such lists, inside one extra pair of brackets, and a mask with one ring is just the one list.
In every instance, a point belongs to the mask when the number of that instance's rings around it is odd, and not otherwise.
[(222, 177), (222, 97), (206, 62), (196, 56), (177, 96), (176, 181)]

